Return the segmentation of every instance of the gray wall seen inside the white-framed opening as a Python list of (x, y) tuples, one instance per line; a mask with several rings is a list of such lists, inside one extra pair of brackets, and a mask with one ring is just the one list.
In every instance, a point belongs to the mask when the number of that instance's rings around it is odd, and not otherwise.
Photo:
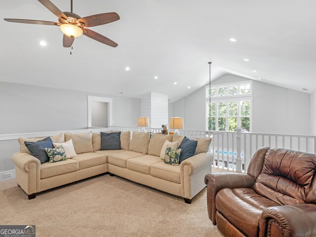
[(91, 126), (108, 127), (108, 103), (92, 101)]

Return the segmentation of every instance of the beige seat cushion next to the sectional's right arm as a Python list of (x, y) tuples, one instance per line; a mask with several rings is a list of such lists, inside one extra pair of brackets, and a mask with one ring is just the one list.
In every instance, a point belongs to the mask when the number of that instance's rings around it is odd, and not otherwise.
[(150, 174), (157, 178), (169, 180), (180, 184), (180, 165), (170, 165), (164, 162), (153, 164)]

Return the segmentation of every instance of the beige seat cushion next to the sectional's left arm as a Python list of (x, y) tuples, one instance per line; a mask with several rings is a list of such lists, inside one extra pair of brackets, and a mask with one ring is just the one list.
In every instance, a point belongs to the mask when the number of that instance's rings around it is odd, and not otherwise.
[(74, 159), (62, 160), (55, 163), (46, 162), (40, 165), (40, 178), (46, 179), (77, 170), (79, 170), (79, 162)]

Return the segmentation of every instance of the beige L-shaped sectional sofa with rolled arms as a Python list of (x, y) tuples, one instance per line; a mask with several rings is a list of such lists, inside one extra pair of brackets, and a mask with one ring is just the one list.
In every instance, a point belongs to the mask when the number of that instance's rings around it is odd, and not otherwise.
[(29, 154), (24, 141), (42, 138), (20, 138), (21, 151), (12, 156), (15, 163), (16, 182), (29, 196), (54, 187), (72, 183), (102, 173), (118, 175), (131, 181), (183, 197), (187, 203), (204, 187), (204, 176), (211, 173), (213, 156), (208, 150), (209, 141), (199, 140), (197, 152), (180, 165), (166, 164), (159, 157), (165, 140), (178, 141), (181, 136), (121, 132), (121, 150), (100, 151), (100, 133), (65, 133), (51, 136), (53, 142), (73, 140), (78, 156), (55, 163), (40, 163)]

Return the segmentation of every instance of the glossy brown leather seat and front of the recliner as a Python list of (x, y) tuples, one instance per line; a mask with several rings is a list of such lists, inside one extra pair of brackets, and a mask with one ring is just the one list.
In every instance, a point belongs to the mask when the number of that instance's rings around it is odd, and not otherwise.
[(259, 218), (276, 202), (262, 197), (252, 189), (222, 189), (216, 195), (216, 209), (246, 236), (259, 236)]

